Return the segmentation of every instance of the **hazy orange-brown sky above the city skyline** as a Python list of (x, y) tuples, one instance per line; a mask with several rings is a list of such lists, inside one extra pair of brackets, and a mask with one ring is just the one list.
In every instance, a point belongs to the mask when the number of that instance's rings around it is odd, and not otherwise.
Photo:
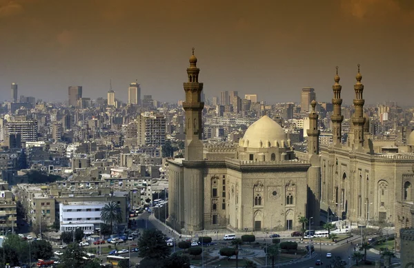
[(208, 98), (224, 90), (268, 103), (304, 86), (330, 101), (339, 65), (352, 103), (357, 63), (366, 103), (414, 100), (412, 0), (0, 0), (1, 100), (66, 101), (69, 85), (106, 98), (109, 80), (159, 101), (184, 99), (195, 47)]

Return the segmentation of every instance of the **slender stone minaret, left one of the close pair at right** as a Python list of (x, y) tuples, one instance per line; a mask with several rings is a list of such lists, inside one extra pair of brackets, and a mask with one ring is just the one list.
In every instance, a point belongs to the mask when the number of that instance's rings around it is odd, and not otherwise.
[(341, 114), (341, 90), (342, 85), (339, 85), (339, 75), (338, 75), (338, 66), (336, 67), (337, 74), (335, 75), (335, 85), (332, 86), (333, 89), (333, 113), (331, 116), (332, 121), (332, 130), (333, 130), (333, 145), (340, 147), (342, 143), (342, 121), (344, 121), (344, 116)]

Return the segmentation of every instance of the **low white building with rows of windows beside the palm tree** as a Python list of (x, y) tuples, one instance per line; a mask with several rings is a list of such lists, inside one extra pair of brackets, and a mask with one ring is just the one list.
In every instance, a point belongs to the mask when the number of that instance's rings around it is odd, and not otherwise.
[(102, 202), (59, 203), (60, 230), (74, 231), (81, 228), (83, 233), (93, 234), (102, 223), (101, 210), (106, 204)]

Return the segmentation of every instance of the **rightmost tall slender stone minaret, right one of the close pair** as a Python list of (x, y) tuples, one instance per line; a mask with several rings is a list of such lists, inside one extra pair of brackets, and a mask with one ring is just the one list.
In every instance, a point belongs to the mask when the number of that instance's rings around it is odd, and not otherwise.
[(357, 83), (354, 85), (355, 90), (355, 99), (353, 101), (355, 112), (352, 116), (352, 123), (354, 125), (354, 148), (359, 150), (364, 148), (364, 124), (366, 118), (364, 118), (364, 103), (365, 100), (362, 99), (362, 92), (364, 91), (364, 85), (362, 85), (362, 75), (359, 73), (359, 64), (358, 64), (358, 73), (357, 73)]

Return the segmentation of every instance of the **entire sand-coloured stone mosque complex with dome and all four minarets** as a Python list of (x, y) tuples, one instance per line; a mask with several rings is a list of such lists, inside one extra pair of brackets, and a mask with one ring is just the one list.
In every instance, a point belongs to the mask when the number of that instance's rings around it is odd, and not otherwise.
[[(280, 125), (263, 116), (248, 127), (239, 143), (203, 145), (204, 103), (197, 58), (190, 56), (186, 100), (184, 159), (168, 161), (170, 225), (182, 233), (227, 228), (235, 231), (301, 229), (298, 218), (319, 225), (325, 210), (359, 225), (411, 226), (414, 202), (414, 132), (405, 152), (374, 150), (364, 113), (362, 74), (354, 85), (355, 113), (342, 142), (339, 75), (333, 85), (333, 144), (319, 146), (316, 102), (309, 114), (306, 153), (296, 152)], [(320, 150), (320, 151), (319, 151)]]

